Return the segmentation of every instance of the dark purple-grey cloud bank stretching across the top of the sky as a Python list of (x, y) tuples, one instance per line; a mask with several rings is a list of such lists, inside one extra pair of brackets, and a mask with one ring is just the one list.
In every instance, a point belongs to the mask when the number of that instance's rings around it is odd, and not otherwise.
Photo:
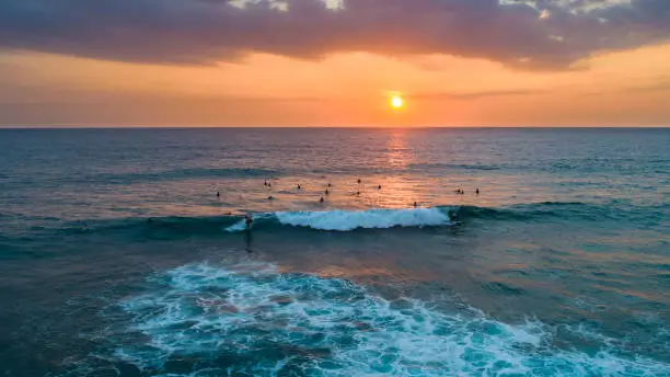
[(0, 47), (157, 64), (212, 64), (253, 52), (316, 59), (365, 50), (389, 56), (449, 54), (529, 69), (565, 69), (599, 50), (638, 47), (670, 36), (668, 0), (348, 0), (340, 8), (326, 3), (3, 0)]

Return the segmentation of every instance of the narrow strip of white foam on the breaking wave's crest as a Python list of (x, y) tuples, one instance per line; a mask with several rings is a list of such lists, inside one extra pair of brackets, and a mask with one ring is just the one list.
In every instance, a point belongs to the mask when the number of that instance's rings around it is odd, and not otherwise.
[(284, 212), (277, 213), (276, 216), (284, 225), (336, 231), (451, 224), (449, 216), (439, 208)]

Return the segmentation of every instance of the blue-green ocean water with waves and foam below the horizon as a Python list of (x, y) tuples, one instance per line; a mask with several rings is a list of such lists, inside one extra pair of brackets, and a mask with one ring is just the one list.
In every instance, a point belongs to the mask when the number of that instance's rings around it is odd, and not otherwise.
[(0, 375), (670, 376), (670, 130), (2, 129)]

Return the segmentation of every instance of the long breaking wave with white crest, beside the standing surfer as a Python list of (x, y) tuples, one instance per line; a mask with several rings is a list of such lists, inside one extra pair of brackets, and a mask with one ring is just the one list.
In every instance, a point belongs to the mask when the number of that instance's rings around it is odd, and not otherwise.
[[(474, 220), (495, 221), (571, 221), (602, 219), (636, 219), (644, 224), (659, 222), (662, 216), (656, 213), (638, 213), (613, 208), (608, 205), (591, 205), (579, 202), (543, 202), (519, 204), (507, 207), (436, 206), (427, 208), (323, 210), (323, 212), (275, 212), (256, 213), (254, 230), (274, 228), (305, 228), (319, 231), (347, 232), (363, 229), (426, 228), (470, 226)], [(654, 224), (656, 224), (654, 222)], [(129, 232), (138, 237), (180, 238), (195, 235), (217, 236), (235, 233), (246, 229), (242, 215), (210, 217), (155, 217), (124, 218), (115, 220), (89, 220), (69, 222), (63, 228), (42, 229), (42, 232)]]

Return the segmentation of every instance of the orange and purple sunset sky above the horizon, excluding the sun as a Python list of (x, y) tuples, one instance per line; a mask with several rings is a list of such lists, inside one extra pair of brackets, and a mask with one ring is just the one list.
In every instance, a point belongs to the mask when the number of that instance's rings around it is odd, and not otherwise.
[(669, 100), (670, 0), (0, 1), (3, 126), (670, 126)]

